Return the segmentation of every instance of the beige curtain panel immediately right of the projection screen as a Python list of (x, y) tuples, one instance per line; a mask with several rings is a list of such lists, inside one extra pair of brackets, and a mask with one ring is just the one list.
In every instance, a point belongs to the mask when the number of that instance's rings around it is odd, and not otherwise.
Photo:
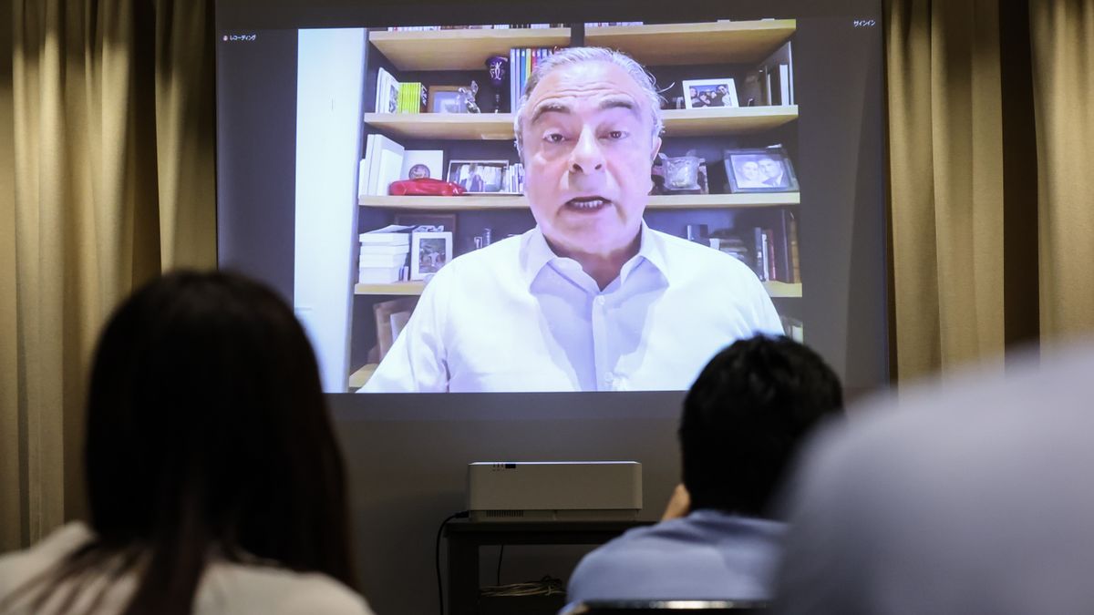
[(1002, 358), (997, 0), (886, 2), (896, 368)]

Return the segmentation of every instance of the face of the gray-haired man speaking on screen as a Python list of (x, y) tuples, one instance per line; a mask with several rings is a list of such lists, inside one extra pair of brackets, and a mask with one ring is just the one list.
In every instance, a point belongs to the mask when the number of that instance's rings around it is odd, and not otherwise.
[(567, 65), (523, 113), (525, 192), (547, 240), (583, 254), (632, 245), (661, 147), (641, 86), (609, 62)]

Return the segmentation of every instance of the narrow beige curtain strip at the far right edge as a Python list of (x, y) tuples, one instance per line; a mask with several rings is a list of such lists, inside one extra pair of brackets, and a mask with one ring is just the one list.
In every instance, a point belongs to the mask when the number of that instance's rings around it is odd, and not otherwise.
[(1043, 343), (1094, 332), (1094, 0), (1031, 0)]

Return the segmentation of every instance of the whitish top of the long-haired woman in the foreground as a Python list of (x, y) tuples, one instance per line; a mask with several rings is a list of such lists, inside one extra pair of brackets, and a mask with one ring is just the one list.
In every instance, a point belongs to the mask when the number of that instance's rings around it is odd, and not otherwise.
[[(69, 523), (24, 552), (0, 556), (0, 600), (23, 585), (39, 572), (57, 565), (72, 549), (91, 538), (82, 523)], [(84, 613), (97, 596), (102, 581), (88, 585), (80, 593), (73, 613)], [(107, 590), (102, 606), (95, 613), (120, 613), (137, 588), (136, 577), (129, 572)], [(68, 592), (54, 592), (43, 612), (57, 611)], [(35, 594), (30, 594), (33, 603)], [(31, 613), (31, 604), (21, 600), (4, 615)], [(263, 565), (242, 565), (213, 561), (205, 570), (194, 601), (196, 615), (219, 613), (316, 613), (335, 615), (372, 615), (364, 599), (338, 581), (319, 573), (300, 573)]]

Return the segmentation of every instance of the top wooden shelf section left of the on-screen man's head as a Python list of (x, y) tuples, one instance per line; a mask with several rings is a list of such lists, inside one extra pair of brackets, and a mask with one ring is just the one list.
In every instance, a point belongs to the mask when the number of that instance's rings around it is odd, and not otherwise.
[(566, 47), (570, 28), (373, 31), (369, 42), (398, 70), (485, 70), (485, 58), (513, 47)]

